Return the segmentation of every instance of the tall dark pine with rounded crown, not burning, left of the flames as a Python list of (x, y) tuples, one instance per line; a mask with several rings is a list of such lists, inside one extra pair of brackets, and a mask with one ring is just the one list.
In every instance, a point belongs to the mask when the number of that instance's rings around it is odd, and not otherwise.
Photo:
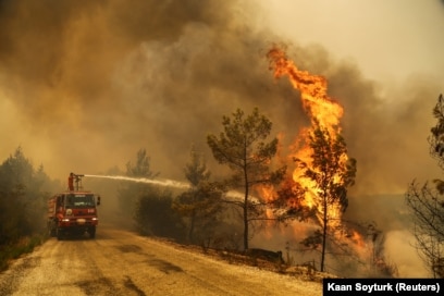
[(249, 226), (261, 214), (260, 202), (252, 200), (250, 190), (255, 185), (280, 182), (286, 168), (276, 171), (270, 169), (271, 160), (276, 153), (278, 138), (264, 141), (270, 135), (272, 123), (257, 108), (249, 115), (237, 109), (232, 118), (222, 118), (222, 125), (224, 132), (219, 137), (208, 135), (207, 143), (215, 160), (232, 170), (229, 186), (243, 190), (243, 199), (233, 203), (242, 210), (244, 248), (248, 249)]

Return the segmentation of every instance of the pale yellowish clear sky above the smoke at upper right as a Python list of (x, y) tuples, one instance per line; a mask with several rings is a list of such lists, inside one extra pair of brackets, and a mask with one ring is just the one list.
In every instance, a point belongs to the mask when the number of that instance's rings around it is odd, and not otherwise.
[(337, 59), (355, 60), (369, 78), (444, 77), (441, 0), (263, 2), (271, 3), (273, 29), (299, 44), (320, 44)]

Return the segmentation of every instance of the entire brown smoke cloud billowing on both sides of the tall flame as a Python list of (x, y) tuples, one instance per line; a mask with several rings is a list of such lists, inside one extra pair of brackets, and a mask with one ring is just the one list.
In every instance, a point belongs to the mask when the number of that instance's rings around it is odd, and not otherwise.
[[(285, 155), (308, 121), (298, 91), (268, 70), (267, 50), (288, 40), (258, 25), (261, 15), (256, 1), (0, 0), (0, 156), (21, 145), (64, 180), (123, 169), (146, 148), (153, 171), (183, 180), (195, 144), (218, 175), (206, 135), (221, 131), (222, 115), (254, 107), (284, 134)], [(295, 41), (288, 55), (325, 75), (344, 106), (358, 163), (354, 195), (403, 193), (414, 177), (436, 176), (427, 136), (437, 83), (383, 87), (320, 46)], [(355, 212), (380, 207), (355, 205)]]

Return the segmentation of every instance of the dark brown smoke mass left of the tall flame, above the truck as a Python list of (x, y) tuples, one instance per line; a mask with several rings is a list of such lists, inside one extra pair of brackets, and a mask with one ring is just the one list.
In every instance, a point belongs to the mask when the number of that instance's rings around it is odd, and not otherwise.
[(59, 176), (122, 166), (146, 148), (162, 175), (182, 177), (192, 143), (206, 149), (207, 133), (236, 108), (258, 106), (293, 130), (297, 95), (267, 70), (270, 35), (252, 32), (236, 8), (1, 2), (0, 83), (12, 102), (3, 113), (17, 115), (4, 131), (15, 133), (11, 146)]

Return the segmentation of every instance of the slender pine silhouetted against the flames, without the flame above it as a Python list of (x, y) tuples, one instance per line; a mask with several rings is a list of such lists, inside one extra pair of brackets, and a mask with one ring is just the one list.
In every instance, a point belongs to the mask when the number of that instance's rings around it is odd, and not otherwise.
[(321, 244), (320, 270), (324, 271), (330, 223), (337, 219), (334, 212), (344, 212), (348, 206), (347, 188), (355, 182), (356, 160), (344, 161), (347, 156), (345, 139), (340, 134), (332, 135), (319, 124), (309, 135), (309, 147), (312, 151), (310, 161), (295, 161), (303, 170), (303, 176), (316, 184), (311, 190), (321, 231), (316, 232), (314, 236)]

